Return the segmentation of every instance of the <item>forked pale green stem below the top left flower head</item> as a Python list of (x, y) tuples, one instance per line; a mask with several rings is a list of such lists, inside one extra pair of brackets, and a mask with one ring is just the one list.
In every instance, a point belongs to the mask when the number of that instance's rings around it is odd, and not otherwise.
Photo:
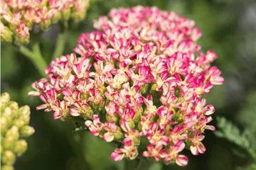
[(32, 51), (29, 50), (27, 47), (21, 46), (19, 48), (19, 51), (25, 55), (26, 57), (28, 57), (28, 59), (31, 60), (31, 62), (33, 62), (34, 66), (36, 67), (36, 69), (38, 69), (38, 72), (45, 77), (46, 76), (46, 61), (43, 59), (42, 55), (41, 55), (41, 50), (39, 47), (38, 42), (36, 42), (33, 47), (32, 47)]

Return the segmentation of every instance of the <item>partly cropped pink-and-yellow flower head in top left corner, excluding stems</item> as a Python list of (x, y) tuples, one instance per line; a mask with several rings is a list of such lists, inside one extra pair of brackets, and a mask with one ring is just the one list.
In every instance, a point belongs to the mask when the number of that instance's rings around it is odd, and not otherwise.
[(81, 21), (89, 0), (0, 0), (0, 38), (26, 44), (30, 33), (59, 21)]

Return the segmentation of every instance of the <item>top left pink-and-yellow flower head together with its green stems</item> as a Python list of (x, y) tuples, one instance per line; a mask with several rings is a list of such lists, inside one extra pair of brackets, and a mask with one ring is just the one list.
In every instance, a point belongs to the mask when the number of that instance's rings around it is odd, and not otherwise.
[[(85, 18), (89, 0), (1, 0), (0, 4), (1, 42), (12, 42), (45, 75), (47, 64), (39, 46), (41, 35), (58, 23), (60, 35), (53, 57), (62, 55), (66, 31)], [(31, 50), (26, 47), (29, 42)]]

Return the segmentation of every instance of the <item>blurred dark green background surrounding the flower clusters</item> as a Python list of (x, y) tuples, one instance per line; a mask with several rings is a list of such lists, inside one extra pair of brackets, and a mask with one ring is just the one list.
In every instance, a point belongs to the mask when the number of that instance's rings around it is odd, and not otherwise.
[[(208, 103), (215, 105), (213, 115), (233, 122), (249, 136), (256, 136), (256, 1), (242, 0), (91, 0), (87, 18), (75, 30), (70, 30), (64, 54), (70, 53), (82, 32), (93, 30), (92, 21), (107, 15), (113, 7), (135, 5), (158, 6), (165, 11), (175, 11), (196, 21), (203, 37), (198, 44), (206, 50), (214, 50), (218, 60), (214, 63), (223, 71), (225, 83), (215, 86), (207, 96)], [(43, 35), (41, 48), (48, 61), (54, 49), (58, 27)], [(217, 137), (207, 131), (204, 144), (206, 154), (197, 157), (186, 152), (188, 166), (161, 165), (138, 161), (114, 162), (110, 154), (114, 147), (99, 140), (89, 132), (73, 132), (74, 126), (53, 120), (52, 113), (36, 111), (41, 101), (28, 98), (31, 83), (41, 76), (31, 61), (27, 60), (12, 45), (1, 44), (0, 86), (1, 93), (11, 94), (20, 106), (31, 106), (31, 125), (36, 133), (28, 138), (28, 151), (15, 164), (16, 170), (30, 169), (248, 169), (252, 157), (245, 149)], [(227, 125), (228, 126), (228, 125)], [(225, 128), (225, 125), (223, 125)], [(231, 128), (232, 129), (232, 128)], [(238, 137), (238, 136), (236, 136)], [(239, 137), (238, 137), (239, 138)], [(253, 138), (253, 137), (252, 137)], [(252, 142), (253, 143), (253, 142)], [(256, 144), (256, 140), (255, 140)], [(253, 168), (252, 168), (253, 169)]]

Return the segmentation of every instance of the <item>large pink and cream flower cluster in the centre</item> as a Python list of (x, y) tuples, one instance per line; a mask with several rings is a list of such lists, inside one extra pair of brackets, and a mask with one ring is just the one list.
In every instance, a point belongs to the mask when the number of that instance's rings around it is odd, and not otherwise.
[[(112, 9), (82, 33), (72, 53), (53, 60), (47, 79), (32, 84), (37, 109), (53, 118), (85, 121), (92, 135), (118, 143), (114, 161), (138, 154), (156, 162), (186, 166), (181, 154), (206, 151), (203, 132), (215, 130), (213, 105), (204, 94), (223, 84), (220, 70), (196, 44), (195, 22), (156, 7)], [(147, 150), (138, 152), (141, 140)]]

